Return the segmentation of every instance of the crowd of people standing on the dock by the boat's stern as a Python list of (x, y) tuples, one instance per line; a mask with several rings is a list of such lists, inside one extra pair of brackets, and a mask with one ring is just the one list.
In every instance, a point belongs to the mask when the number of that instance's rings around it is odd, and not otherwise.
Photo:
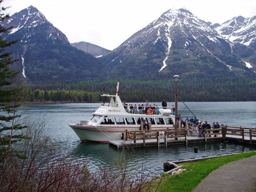
[[(190, 119), (186, 118), (188, 122), (188, 125), (190, 128), (197, 130), (198, 131), (198, 137), (204, 137), (205, 136), (205, 131), (204, 129), (219, 129), (220, 125), (218, 122), (213, 122), (213, 125), (211, 127), (211, 124), (208, 121), (199, 121), (196, 117), (193, 118), (191, 117)], [(211, 133), (210, 130), (208, 130), (208, 133)], [(219, 133), (219, 130), (213, 130), (213, 133)], [(211, 135), (207, 135), (208, 137), (211, 137)], [(207, 137), (206, 136), (206, 137)], [(214, 135), (216, 137), (217, 135)]]

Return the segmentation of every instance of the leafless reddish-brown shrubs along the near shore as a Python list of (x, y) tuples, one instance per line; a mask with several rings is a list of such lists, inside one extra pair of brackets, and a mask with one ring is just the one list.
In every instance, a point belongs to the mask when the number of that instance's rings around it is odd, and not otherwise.
[[(43, 132), (44, 123), (31, 123), (23, 143), (23, 158), (1, 156), (0, 191), (153, 191), (155, 181), (144, 165), (131, 164), (133, 149), (123, 149), (113, 166), (93, 173), (86, 161), (59, 151)], [(7, 156), (6, 156), (7, 157)], [(161, 181), (158, 181), (161, 182)]]

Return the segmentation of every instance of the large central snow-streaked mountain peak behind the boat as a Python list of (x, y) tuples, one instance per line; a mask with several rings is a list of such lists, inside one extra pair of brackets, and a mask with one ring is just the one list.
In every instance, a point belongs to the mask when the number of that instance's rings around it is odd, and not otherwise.
[(182, 8), (163, 13), (104, 57), (104, 61), (127, 76), (139, 68), (142, 74), (149, 71), (174, 75), (185, 66), (189, 66), (186, 73), (245, 67), (245, 62), (231, 52), (229, 42), (216, 30)]

